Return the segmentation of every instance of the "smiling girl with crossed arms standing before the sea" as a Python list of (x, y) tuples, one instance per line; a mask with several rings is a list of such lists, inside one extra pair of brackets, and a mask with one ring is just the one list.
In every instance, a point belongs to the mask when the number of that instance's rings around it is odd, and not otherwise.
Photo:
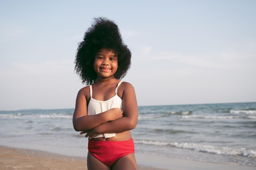
[(88, 137), (88, 170), (137, 170), (130, 130), (138, 120), (133, 86), (122, 79), (131, 53), (115, 22), (94, 18), (76, 53), (75, 71), (82, 82), (73, 125)]

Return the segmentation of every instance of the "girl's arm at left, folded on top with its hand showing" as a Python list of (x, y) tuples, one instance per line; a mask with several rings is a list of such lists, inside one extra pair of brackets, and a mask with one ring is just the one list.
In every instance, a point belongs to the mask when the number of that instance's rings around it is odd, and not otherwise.
[(119, 119), (123, 112), (119, 108), (112, 108), (97, 115), (87, 115), (86, 94), (89, 88), (82, 88), (76, 97), (76, 107), (73, 115), (73, 126), (76, 131), (87, 131), (108, 121)]

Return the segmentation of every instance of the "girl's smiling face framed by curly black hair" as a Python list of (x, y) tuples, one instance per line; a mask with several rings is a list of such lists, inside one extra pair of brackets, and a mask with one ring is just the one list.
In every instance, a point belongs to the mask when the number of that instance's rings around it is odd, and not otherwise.
[(114, 77), (117, 72), (118, 62), (117, 55), (108, 49), (100, 49), (94, 59), (94, 70), (98, 79)]

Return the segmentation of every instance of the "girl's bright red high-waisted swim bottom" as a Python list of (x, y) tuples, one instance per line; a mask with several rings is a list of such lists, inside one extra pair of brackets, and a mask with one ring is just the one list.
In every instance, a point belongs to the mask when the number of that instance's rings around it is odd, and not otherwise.
[(89, 140), (88, 151), (108, 167), (111, 167), (117, 159), (135, 152), (132, 139), (128, 141)]

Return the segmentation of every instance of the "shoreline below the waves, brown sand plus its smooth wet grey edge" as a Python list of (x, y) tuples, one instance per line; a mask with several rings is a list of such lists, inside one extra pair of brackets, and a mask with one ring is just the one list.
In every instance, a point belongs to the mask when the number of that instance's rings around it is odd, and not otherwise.
[[(20, 167), (20, 170), (29, 170), (28, 167), (35, 168), (35, 166), (38, 170), (45, 169), (45, 166), (39, 167), (41, 164), (36, 164), (36, 162), (47, 162), (47, 166), (56, 166), (56, 170), (68, 169), (69, 166), (73, 170), (80, 170), (80, 168), (87, 170), (86, 155), (87, 149), (85, 148), (38, 147), (38, 145), (33, 144), (2, 144), (0, 142), (0, 165), (3, 167), (1, 170), (11, 170), (13, 168), (10, 169), (10, 167), (14, 167), (15, 164), (18, 166), (17, 163), (24, 164), (25, 168), (22, 169)], [(138, 170), (255, 170), (256, 168), (252, 166), (191, 161), (136, 152), (135, 157)], [(15, 163), (4, 161), (5, 159), (14, 160)], [(56, 162), (60, 164), (56, 165)], [(67, 166), (66, 164), (70, 165)], [(66, 166), (63, 167), (62, 165)]]

